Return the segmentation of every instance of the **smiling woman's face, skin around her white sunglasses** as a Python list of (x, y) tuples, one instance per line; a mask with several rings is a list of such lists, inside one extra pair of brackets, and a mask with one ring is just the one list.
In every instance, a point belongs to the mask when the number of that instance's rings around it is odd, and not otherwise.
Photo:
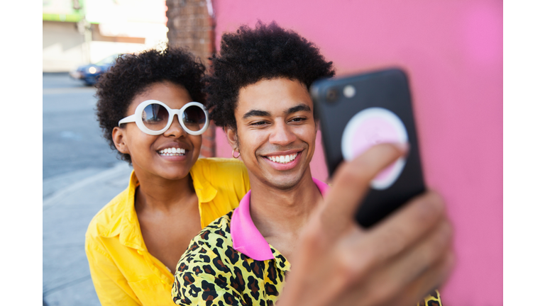
[[(187, 90), (169, 81), (152, 84), (143, 93), (133, 98), (126, 116), (133, 115), (136, 107), (146, 100), (158, 100), (172, 109), (180, 109), (192, 101)], [(202, 101), (199, 101), (202, 102)], [(116, 133), (121, 133), (117, 138)], [(114, 129), (116, 147), (131, 155), (134, 171), (142, 176), (159, 176), (163, 179), (183, 179), (197, 162), (201, 150), (202, 136), (189, 135), (180, 125), (177, 115), (172, 125), (161, 135), (148, 135), (136, 123), (126, 123), (124, 128)], [(123, 142), (118, 145), (118, 142)], [(183, 149), (185, 153), (166, 154), (167, 149)]]

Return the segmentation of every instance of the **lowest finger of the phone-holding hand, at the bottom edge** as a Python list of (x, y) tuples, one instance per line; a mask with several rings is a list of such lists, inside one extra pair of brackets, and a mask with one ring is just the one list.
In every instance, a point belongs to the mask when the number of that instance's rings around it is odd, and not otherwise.
[[(419, 276), (417, 280), (410, 283), (395, 300), (392, 300), (391, 305), (413, 306), (417, 302), (423, 301), (425, 297), (434, 297), (431, 299), (433, 301), (440, 300), (441, 296), (435, 289), (441, 287), (446, 282), (448, 276), (451, 274), (454, 263), (454, 252), (452, 249), (448, 249), (446, 254), (441, 258), (441, 261), (429, 268), (429, 271), (426, 271), (426, 273), (422, 273), (422, 276)], [(425, 305), (439, 306), (439, 303), (428, 301)]]

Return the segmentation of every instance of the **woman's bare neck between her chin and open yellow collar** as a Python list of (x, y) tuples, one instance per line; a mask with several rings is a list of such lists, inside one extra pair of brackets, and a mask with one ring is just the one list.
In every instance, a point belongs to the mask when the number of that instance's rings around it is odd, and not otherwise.
[(158, 176), (150, 176), (138, 167), (134, 167), (140, 186), (136, 191), (136, 204), (140, 209), (169, 211), (179, 205), (194, 205), (189, 201), (194, 196), (191, 175), (182, 179), (170, 180)]

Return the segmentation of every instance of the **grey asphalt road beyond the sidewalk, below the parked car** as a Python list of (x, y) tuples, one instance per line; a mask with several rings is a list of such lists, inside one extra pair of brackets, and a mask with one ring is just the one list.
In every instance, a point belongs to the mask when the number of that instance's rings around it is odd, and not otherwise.
[[(43, 180), (79, 178), (117, 162), (94, 115), (94, 87), (67, 74), (43, 74)], [(44, 188), (44, 196), (52, 193)], [(47, 189), (47, 190), (46, 190)]]

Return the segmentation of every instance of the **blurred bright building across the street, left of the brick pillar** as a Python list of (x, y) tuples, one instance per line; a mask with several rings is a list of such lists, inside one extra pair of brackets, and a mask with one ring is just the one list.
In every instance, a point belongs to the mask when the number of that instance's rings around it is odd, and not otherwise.
[(161, 0), (43, 0), (43, 72), (69, 72), (167, 40)]

